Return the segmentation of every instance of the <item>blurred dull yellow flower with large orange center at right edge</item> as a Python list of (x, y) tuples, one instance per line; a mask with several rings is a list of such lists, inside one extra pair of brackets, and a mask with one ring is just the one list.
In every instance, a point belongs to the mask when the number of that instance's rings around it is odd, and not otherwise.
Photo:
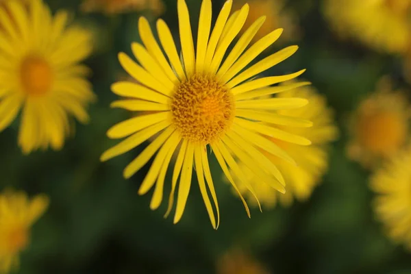
[(378, 164), (403, 148), (408, 139), (410, 106), (401, 91), (383, 78), (377, 91), (360, 103), (351, 117), (348, 155), (364, 167)]

